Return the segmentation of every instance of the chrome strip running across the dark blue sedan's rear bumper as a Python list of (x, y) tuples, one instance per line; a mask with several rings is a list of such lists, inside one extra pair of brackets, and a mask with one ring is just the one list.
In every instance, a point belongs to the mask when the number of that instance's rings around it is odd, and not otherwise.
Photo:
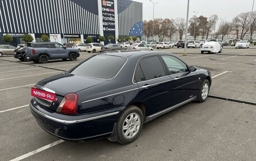
[[(31, 103), (30, 103), (31, 104)], [(30, 105), (33, 107), (33, 105)], [(99, 118), (103, 118), (103, 117), (108, 117), (108, 116), (113, 116), (117, 113), (119, 113), (119, 111), (117, 112), (113, 112), (113, 113), (108, 113), (108, 114), (102, 114), (100, 116), (94, 116), (94, 117), (90, 117), (90, 118), (84, 118), (84, 119), (77, 119), (77, 120), (64, 120), (64, 119), (58, 119), (58, 118), (54, 118), (54, 117), (51, 117), (51, 116), (48, 116), (47, 114), (44, 114), (38, 110), (36, 110), (36, 112), (38, 112), (41, 116), (44, 116), (48, 119), (51, 119), (52, 121), (56, 121), (56, 122), (60, 122), (60, 123), (65, 123), (65, 124), (72, 124), (72, 123), (80, 123), (80, 122), (85, 122), (85, 121), (91, 121), (93, 119), (99, 119)]]

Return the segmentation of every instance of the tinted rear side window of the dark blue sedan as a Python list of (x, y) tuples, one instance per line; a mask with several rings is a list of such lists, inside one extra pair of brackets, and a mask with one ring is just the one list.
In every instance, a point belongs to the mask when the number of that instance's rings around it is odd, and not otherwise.
[(166, 76), (164, 68), (158, 56), (142, 59), (135, 71), (135, 81), (152, 80)]

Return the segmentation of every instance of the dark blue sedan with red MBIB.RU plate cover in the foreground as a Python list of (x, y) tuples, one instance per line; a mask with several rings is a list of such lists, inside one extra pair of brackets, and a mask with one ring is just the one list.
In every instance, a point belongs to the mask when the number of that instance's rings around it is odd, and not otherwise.
[(204, 102), (211, 73), (166, 52), (96, 54), (31, 89), (31, 113), (66, 140), (107, 137), (128, 144), (143, 124), (191, 101)]

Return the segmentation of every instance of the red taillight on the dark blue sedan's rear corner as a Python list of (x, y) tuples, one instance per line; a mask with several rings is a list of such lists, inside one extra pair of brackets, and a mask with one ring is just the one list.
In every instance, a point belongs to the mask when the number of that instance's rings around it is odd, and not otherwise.
[(77, 94), (69, 93), (64, 96), (57, 111), (61, 113), (76, 114), (77, 113)]

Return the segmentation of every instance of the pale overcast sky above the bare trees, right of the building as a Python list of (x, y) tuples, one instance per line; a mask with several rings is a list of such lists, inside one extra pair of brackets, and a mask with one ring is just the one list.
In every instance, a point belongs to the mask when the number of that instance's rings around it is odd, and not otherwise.
[[(143, 3), (143, 20), (153, 19), (153, 3), (149, 0), (134, 0)], [(154, 3), (154, 18), (176, 19), (177, 17), (186, 20), (188, 0), (152, 0)], [(254, 2), (253, 11), (256, 7)], [(190, 0), (189, 19), (198, 12), (196, 16), (209, 17), (218, 15), (220, 18), (231, 22), (239, 13), (251, 12), (253, 0)]]

